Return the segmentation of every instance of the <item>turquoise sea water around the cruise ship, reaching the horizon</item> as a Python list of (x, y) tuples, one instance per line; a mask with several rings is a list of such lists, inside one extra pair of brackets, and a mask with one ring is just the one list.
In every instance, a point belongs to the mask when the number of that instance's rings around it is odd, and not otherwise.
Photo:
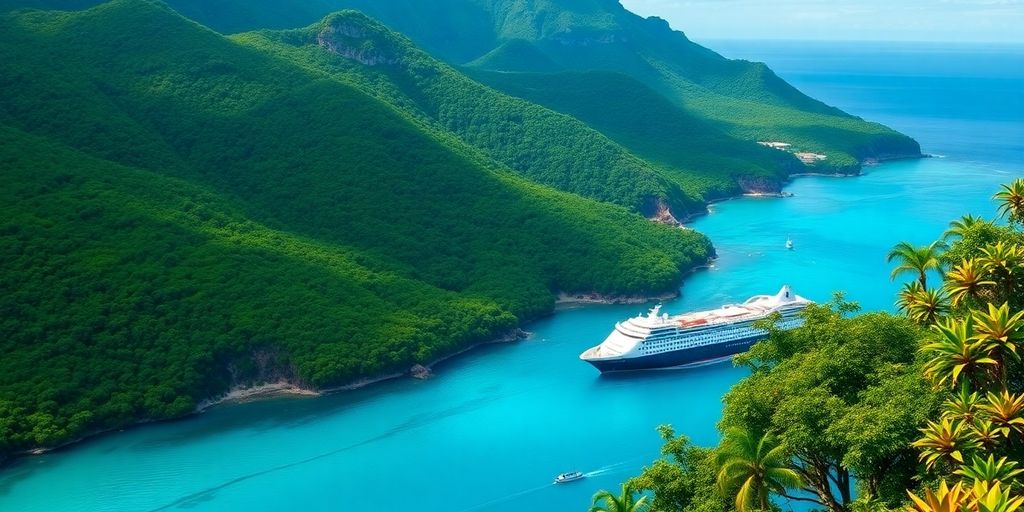
[[(890, 307), (884, 256), (924, 243), (962, 213), (989, 215), (997, 184), (1024, 175), (1024, 49), (731, 44), (805, 91), (915, 136), (944, 158), (808, 177), (787, 199), (714, 206), (694, 227), (720, 259), (686, 280), (668, 311), (774, 292), (834, 290)], [(895, 62), (895, 63), (894, 63)], [(795, 251), (785, 251), (790, 236)], [(643, 306), (559, 310), (527, 341), (402, 379), (321, 398), (215, 409), (102, 436), (0, 472), (0, 510), (584, 510), (657, 456), (671, 423), (716, 441), (729, 365), (599, 377), (577, 359)], [(579, 469), (584, 481), (554, 486)]]

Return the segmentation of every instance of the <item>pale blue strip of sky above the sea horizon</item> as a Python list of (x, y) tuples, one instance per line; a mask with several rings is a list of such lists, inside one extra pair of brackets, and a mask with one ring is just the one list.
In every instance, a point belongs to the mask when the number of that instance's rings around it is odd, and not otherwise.
[(695, 41), (1024, 43), (1024, 0), (622, 0)]

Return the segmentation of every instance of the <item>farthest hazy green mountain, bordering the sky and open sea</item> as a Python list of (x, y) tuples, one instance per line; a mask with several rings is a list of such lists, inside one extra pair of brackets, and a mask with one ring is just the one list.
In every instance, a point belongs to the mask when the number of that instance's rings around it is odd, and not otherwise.
[[(921, 155), (913, 139), (808, 97), (763, 63), (726, 59), (673, 31), (664, 19), (627, 11), (617, 0), (225, 0), (216, 2), (217, 7), (200, 0), (169, 3), (227, 33), (299, 27), (332, 10), (354, 8), (455, 65), (507, 75), (626, 75), (734, 137), (787, 142), (797, 151), (824, 154), (827, 160), (815, 164), (821, 171), (854, 172), (867, 159)], [(273, 15), (289, 9), (287, 16)], [(518, 82), (506, 76), (488, 84), (514, 94), (521, 90)], [(615, 95), (603, 97), (601, 103), (631, 100)], [(572, 110), (553, 100), (543, 103), (559, 112)], [(671, 151), (672, 145), (660, 150)], [(690, 150), (683, 144), (675, 151)]]

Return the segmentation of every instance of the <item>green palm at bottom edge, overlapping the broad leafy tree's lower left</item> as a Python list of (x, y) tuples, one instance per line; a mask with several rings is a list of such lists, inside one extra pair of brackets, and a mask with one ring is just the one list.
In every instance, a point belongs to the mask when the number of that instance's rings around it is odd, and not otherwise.
[(790, 467), (790, 455), (775, 436), (749, 430), (726, 431), (718, 456), (718, 488), (722, 496), (735, 493), (736, 510), (768, 510), (768, 496), (799, 487), (800, 475)]

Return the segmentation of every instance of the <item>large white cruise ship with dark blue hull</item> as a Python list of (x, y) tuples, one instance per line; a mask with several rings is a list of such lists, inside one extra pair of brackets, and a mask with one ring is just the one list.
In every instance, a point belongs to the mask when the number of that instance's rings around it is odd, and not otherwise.
[(742, 304), (670, 316), (654, 306), (646, 316), (615, 324), (598, 346), (580, 354), (601, 372), (685, 367), (721, 359), (751, 348), (768, 333), (752, 324), (778, 311), (779, 329), (800, 327), (798, 313), (812, 302), (788, 285), (775, 295), (756, 295)]

